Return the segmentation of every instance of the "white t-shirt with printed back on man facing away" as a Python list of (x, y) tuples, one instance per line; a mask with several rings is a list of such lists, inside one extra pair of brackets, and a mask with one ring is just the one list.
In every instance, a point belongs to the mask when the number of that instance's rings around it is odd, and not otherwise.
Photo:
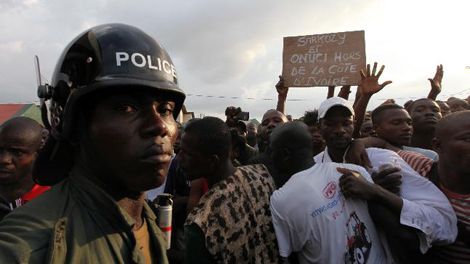
[(300, 263), (388, 263), (367, 202), (345, 199), (337, 167), (324, 163), (294, 174), (271, 196), (271, 214), (280, 255), (297, 252)]

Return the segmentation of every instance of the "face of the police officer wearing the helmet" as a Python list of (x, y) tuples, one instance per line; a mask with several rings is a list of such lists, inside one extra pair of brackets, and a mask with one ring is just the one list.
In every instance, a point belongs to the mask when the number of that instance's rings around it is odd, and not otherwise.
[[(141, 192), (165, 181), (173, 154), (177, 126), (175, 103), (149, 92), (111, 95), (92, 112), (89, 146), (106, 184)], [(90, 151), (91, 150), (91, 151)]]

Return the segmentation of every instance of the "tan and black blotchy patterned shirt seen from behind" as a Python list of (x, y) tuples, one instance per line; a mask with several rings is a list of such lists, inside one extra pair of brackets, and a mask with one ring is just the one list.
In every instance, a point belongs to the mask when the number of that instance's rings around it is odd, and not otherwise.
[(238, 167), (202, 196), (185, 225), (196, 224), (218, 263), (277, 263), (269, 210), (274, 181), (264, 165)]

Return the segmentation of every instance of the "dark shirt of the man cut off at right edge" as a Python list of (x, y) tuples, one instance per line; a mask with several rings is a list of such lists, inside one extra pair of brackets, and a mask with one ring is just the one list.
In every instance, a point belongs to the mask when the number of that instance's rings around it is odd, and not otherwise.
[(440, 186), (457, 214), (459, 235), (453, 244), (434, 247), (432, 263), (470, 263), (470, 194), (462, 195)]

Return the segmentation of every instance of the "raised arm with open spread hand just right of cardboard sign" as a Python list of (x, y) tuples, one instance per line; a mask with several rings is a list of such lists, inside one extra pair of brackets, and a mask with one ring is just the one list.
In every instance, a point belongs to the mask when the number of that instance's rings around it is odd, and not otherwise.
[[(374, 62), (374, 68), (370, 70), (370, 64), (367, 64), (366, 70), (361, 70), (361, 84), (357, 87), (359, 97), (354, 102), (354, 113), (355, 113), (355, 124), (353, 137), (359, 137), (359, 131), (361, 130), (362, 122), (364, 121), (364, 115), (366, 113), (367, 104), (375, 93), (381, 91), (385, 86), (392, 83), (392, 81), (386, 81), (379, 84), (379, 78), (385, 69), (385, 65), (380, 67), (377, 72), (377, 62)], [(377, 73), (376, 73), (377, 72)]]

